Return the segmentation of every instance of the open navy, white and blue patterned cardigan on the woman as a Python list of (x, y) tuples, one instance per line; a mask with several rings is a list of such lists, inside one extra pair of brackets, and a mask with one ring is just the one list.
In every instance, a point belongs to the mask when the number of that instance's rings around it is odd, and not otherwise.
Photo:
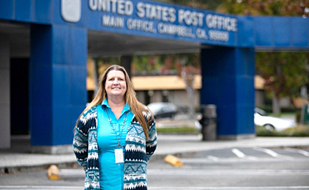
[[(144, 113), (146, 122), (150, 113)], [(157, 130), (154, 120), (149, 125), (146, 140), (143, 127), (133, 116), (126, 136), (124, 161), (124, 190), (147, 190), (147, 162), (157, 148)], [(85, 189), (99, 189), (99, 159), (97, 147), (97, 108), (83, 113), (75, 128), (73, 151), (85, 170)]]

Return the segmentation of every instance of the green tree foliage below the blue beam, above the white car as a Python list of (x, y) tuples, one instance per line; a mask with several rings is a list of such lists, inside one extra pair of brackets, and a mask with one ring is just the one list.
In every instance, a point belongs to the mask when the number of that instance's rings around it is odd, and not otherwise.
[(256, 70), (266, 80), (268, 94), (299, 96), (299, 91), (308, 82), (308, 61), (305, 52), (258, 52)]

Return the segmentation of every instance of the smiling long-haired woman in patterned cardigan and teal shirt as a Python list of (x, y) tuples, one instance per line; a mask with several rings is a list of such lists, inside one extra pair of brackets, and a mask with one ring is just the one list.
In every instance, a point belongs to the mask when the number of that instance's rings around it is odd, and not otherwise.
[(156, 148), (152, 113), (136, 99), (126, 70), (112, 65), (75, 125), (73, 150), (85, 189), (147, 189), (147, 162)]

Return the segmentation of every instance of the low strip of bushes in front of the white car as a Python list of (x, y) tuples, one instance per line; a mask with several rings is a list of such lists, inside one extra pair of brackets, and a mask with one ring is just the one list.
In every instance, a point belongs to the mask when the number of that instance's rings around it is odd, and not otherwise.
[(309, 137), (309, 126), (298, 125), (297, 127), (291, 127), (280, 132), (257, 126), (256, 135), (257, 137)]

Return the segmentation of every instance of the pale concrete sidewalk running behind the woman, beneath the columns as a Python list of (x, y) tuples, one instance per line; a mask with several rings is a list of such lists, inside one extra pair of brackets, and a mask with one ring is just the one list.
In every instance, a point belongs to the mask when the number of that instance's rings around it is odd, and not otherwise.
[[(193, 153), (220, 148), (241, 147), (309, 147), (309, 137), (255, 137), (253, 139), (238, 139), (235, 141), (202, 141), (200, 135), (166, 135), (158, 134), (157, 151), (153, 160), (162, 159), (167, 154), (183, 157)], [(13, 139), (12, 148), (0, 149), (0, 174), (42, 170), (55, 164), (58, 167), (78, 165), (73, 151), (65, 155), (47, 155), (30, 153), (30, 140)]]

